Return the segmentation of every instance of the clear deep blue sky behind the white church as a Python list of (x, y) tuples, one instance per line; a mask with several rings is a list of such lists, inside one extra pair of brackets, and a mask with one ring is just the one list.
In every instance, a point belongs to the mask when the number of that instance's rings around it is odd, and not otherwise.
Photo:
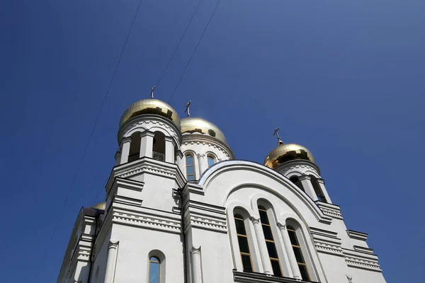
[[(168, 100), (217, 0), (204, 0), (157, 87)], [(125, 108), (147, 98), (198, 0), (4, 1), (0, 9), (4, 282), (55, 282), (81, 206), (104, 200)], [(214, 122), (237, 158), (307, 146), (387, 282), (424, 279), (423, 0), (222, 0), (171, 105)], [(60, 224), (45, 253), (52, 231)], [(417, 281), (419, 280), (419, 281)]]

